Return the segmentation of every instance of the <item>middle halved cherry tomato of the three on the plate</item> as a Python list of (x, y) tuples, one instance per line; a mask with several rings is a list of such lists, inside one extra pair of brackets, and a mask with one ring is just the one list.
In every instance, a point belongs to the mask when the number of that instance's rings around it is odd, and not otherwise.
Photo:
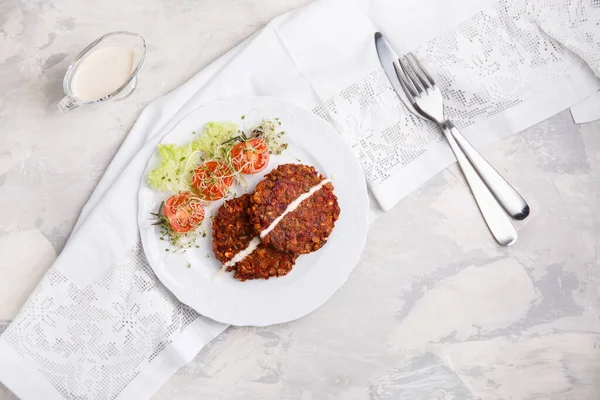
[(233, 173), (229, 167), (218, 161), (206, 161), (192, 176), (192, 185), (205, 200), (219, 200), (233, 185)]

